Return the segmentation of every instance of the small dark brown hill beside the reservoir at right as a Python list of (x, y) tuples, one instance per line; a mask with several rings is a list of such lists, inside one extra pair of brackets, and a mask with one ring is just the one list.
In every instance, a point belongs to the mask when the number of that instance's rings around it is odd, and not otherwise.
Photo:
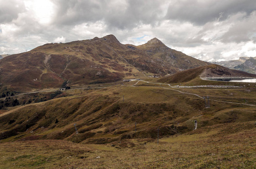
[(250, 74), (242, 72), (240, 70), (233, 70), (225, 68), (224, 66), (212, 64), (207, 66), (201, 66), (199, 68), (194, 68), (190, 70), (184, 70), (172, 75), (167, 75), (161, 79), (159, 82), (166, 83), (182, 83), (189, 82), (195, 78), (208, 78), (208, 77), (249, 77), (256, 78), (256, 74)]

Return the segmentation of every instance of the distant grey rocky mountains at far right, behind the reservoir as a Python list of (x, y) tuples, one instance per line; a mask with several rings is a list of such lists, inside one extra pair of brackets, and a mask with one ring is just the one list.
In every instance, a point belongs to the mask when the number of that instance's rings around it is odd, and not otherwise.
[(256, 74), (256, 57), (240, 57), (238, 60), (216, 61), (213, 63), (230, 69)]

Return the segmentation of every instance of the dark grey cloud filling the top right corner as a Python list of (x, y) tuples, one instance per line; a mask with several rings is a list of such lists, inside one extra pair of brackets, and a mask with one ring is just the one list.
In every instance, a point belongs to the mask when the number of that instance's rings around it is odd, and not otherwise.
[(217, 19), (225, 20), (229, 15), (237, 12), (246, 12), (247, 15), (250, 15), (255, 9), (255, 0), (172, 1), (166, 18), (204, 25)]

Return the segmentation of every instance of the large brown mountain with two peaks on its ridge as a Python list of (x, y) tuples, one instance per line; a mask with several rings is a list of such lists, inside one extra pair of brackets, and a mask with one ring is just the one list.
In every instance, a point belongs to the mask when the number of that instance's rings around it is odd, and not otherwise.
[(115, 82), (144, 75), (163, 76), (208, 65), (153, 38), (123, 45), (114, 35), (69, 43), (48, 43), (0, 60), (0, 81), (16, 91)]

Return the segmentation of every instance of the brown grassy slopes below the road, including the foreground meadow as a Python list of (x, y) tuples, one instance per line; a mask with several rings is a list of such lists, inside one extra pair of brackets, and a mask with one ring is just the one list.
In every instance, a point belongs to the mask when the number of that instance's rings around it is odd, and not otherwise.
[(255, 168), (254, 89), (132, 84), (1, 110), (0, 166)]

